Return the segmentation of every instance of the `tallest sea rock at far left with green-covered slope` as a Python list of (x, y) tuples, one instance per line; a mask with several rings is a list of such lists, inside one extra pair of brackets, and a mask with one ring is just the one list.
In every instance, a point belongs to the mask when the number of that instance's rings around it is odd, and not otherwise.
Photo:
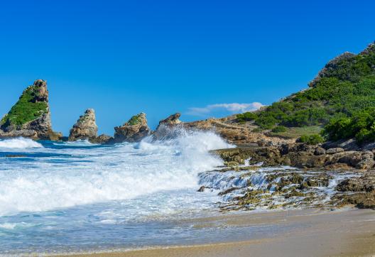
[(36, 80), (32, 86), (27, 87), (18, 102), (1, 119), (0, 136), (60, 140), (62, 134), (52, 129), (48, 97), (45, 80)]

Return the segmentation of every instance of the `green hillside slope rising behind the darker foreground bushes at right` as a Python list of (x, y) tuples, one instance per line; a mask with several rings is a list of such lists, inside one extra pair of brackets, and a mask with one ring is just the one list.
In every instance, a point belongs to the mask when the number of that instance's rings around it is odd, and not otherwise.
[(375, 45), (329, 62), (310, 86), (261, 111), (239, 114), (237, 121), (254, 121), (263, 129), (283, 125), (288, 127), (283, 133), (298, 133), (295, 127), (317, 128), (375, 107)]

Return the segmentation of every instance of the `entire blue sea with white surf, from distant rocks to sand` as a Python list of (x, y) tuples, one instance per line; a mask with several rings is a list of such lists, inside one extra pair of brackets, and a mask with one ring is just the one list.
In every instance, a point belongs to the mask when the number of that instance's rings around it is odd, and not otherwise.
[(210, 232), (181, 221), (218, 212), (199, 174), (230, 147), (212, 131), (111, 146), (0, 140), (0, 254), (200, 243)]

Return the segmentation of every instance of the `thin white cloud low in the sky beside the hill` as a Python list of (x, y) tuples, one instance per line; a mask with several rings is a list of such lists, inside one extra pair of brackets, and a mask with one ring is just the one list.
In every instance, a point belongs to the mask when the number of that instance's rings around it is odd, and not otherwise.
[(245, 111), (255, 111), (261, 108), (263, 104), (253, 102), (249, 104), (210, 104), (205, 107), (191, 107), (186, 114), (195, 116), (204, 116), (212, 113), (212, 111), (229, 111), (231, 113), (241, 113)]

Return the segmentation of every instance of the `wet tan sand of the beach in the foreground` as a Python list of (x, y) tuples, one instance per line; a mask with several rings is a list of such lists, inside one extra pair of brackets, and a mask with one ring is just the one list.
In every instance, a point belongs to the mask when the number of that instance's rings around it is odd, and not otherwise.
[[(275, 224), (272, 234), (256, 235), (257, 239), (195, 246), (173, 246), (107, 253), (82, 253), (70, 256), (375, 256), (375, 211), (348, 209), (322, 212), (317, 209), (262, 214), (229, 214), (224, 217), (203, 218), (199, 224), (251, 226)], [(299, 224), (303, 224), (301, 227)], [(200, 225), (201, 226), (201, 225)]]

